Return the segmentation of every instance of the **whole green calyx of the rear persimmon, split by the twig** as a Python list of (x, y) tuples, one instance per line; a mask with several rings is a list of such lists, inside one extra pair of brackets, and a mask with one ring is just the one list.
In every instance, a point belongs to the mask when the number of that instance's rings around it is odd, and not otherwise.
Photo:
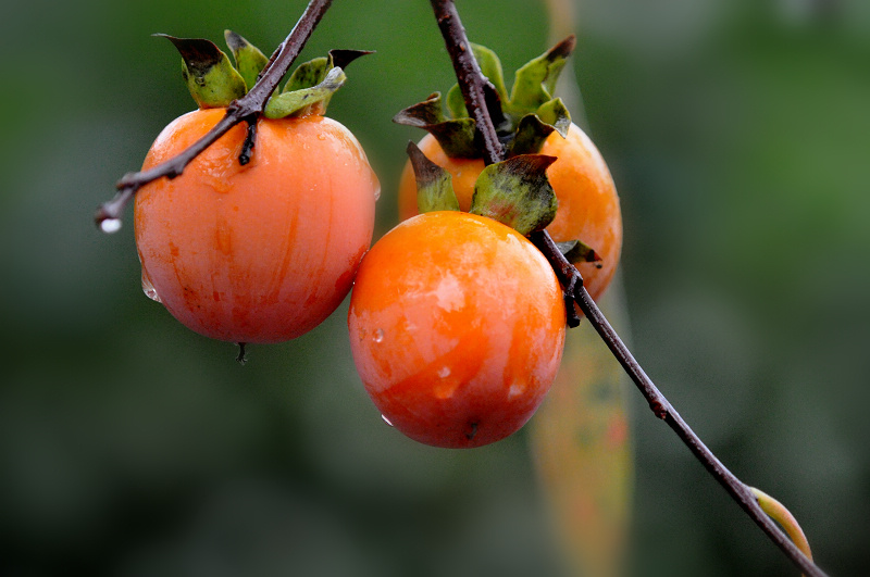
[[(486, 47), (471, 45), (481, 72), (488, 80), (484, 86), (487, 110), (499, 139), (508, 147), (508, 156), (539, 152), (554, 131), (563, 138), (568, 136), (571, 114), (561, 99), (552, 97), (552, 92), (575, 45), (574, 36), (569, 36), (520, 67), (510, 95), (498, 55)], [(463, 121), (468, 122), (463, 124)], [(469, 117), (459, 85), (450, 88), (444, 102), (435, 92), (423, 102), (399, 112), (393, 122), (427, 130), (448, 156), (484, 156), (483, 142), (476, 134), (474, 121)]]

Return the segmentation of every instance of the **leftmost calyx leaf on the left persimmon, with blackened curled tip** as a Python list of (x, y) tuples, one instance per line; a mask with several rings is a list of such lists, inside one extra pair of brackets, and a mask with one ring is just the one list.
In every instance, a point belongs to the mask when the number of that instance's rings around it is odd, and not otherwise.
[(178, 49), (182, 74), (200, 109), (226, 106), (247, 92), (243, 76), (211, 40), (175, 38), (165, 34), (154, 36), (166, 38)]

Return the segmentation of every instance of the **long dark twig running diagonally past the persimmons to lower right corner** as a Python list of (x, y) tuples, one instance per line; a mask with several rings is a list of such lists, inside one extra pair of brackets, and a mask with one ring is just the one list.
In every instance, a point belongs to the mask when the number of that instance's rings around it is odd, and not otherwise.
[[(457, 80), (465, 100), (465, 108), (469, 111), (469, 115), (476, 122), (477, 130), (483, 136), (485, 145), (484, 161), (486, 164), (499, 162), (504, 160), (504, 149), (498, 142), (495, 126), (489, 117), (486, 101), (483, 98), (483, 87), (487, 80), (481, 73), (473, 51), (469, 49), (469, 39), (465, 36), (462, 22), (459, 20), (456, 5), (452, 0), (430, 1), (438, 21), (442, 36), (444, 36), (447, 52), (452, 60)], [(566, 260), (549, 234), (546, 230), (540, 230), (530, 235), (530, 239), (547, 258), (559, 281), (572, 294), (572, 300), (577, 303), (583, 314), (586, 315), (589, 323), (605, 341), (605, 344), (610, 349), (610, 352), (613, 353), (613, 356), (617, 358), (617, 361), (641, 390), (652, 413), (676, 432), (676, 436), (688, 447), (689, 451), (701, 462), (705, 468), (805, 575), (824, 577), (825, 574), (795, 547), (773, 520), (765, 514), (753, 490), (717, 459), (712, 451), (701, 442), (695, 431), (683, 421), (683, 417), (674, 410), (668, 399), (658, 390), (631, 351), (629, 351), (629, 348), (622, 342), (617, 331), (613, 330), (601, 310), (589, 297), (588, 291), (583, 286), (583, 277), (580, 272)], [(569, 310), (573, 310), (573, 305)], [(569, 315), (570, 318), (571, 316)]]

